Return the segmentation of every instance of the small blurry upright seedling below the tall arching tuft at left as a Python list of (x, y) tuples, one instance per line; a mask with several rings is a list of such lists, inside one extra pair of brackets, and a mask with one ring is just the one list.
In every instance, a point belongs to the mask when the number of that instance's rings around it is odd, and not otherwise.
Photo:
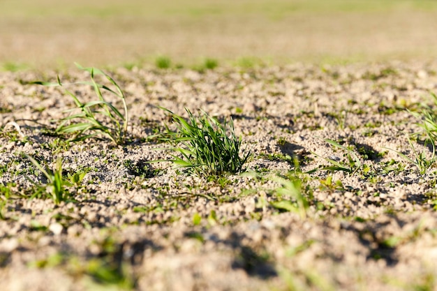
[(29, 158), (29, 161), (35, 165), (35, 167), (40, 170), (44, 176), (49, 181), (49, 184), (45, 186), (45, 190), (50, 194), (54, 204), (59, 204), (62, 201), (68, 200), (70, 197), (68, 191), (65, 189), (66, 181), (64, 181), (62, 177), (62, 160), (61, 158), (57, 159), (56, 167), (54, 170), (45, 169), (38, 161), (32, 158), (29, 155), (24, 155)]

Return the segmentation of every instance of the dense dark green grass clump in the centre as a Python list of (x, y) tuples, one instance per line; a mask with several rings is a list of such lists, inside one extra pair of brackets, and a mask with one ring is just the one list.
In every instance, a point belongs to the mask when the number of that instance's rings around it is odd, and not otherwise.
[(188, 121), (186, 121), (170, 110), (166, 111), (172, 114), (172, 121), (176, 124), (177, 130), (172, 131), (167, 128), (168, 137), (163, 140), (182, 145), (172, 149), (182, 154), (182, 158), (172, 155), (173, 163), (181, 167), (189, 167), (196, 174), (205, 177), (226, 172), (235, 174), (242, 170), (251, 153), (243, 151), (243, 156), (239, 156), (242, 137), (235, 135), (232, 119), (220, 123), (206, 112), (195, 117), (186, 109), (188, 113)]

